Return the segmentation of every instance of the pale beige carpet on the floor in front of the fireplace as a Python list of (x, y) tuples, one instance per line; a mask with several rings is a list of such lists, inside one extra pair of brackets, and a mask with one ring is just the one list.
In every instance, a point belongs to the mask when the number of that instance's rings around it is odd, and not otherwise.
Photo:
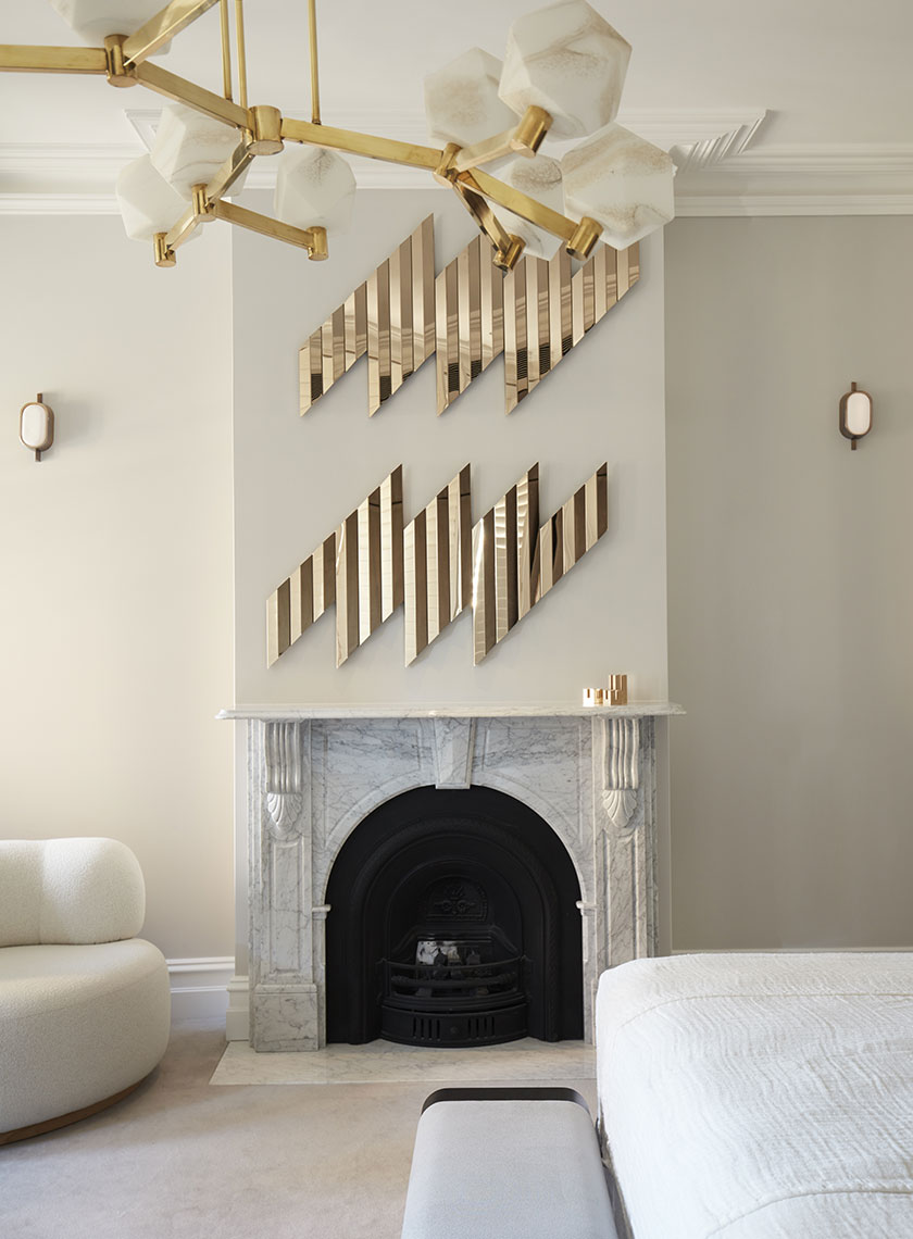
[[(133, 1097), (0, 1147), (2, 1239), (398, 1239), (441, 1082), (211, 1087), (224, 1048), (221, 1026), (178, 1026)], [(595, 1113), (591, 1079), (560, 1083)]]

